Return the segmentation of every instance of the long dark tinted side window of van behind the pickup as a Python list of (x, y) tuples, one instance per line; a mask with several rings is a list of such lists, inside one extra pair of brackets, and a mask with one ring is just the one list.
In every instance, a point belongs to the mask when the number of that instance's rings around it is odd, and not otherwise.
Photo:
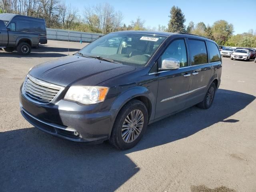
[(34, 33), (45, 33), (45, 25), (42, 22), (24, 22), (18, 21), (17, 30), (20, 32), (34, 32)]

